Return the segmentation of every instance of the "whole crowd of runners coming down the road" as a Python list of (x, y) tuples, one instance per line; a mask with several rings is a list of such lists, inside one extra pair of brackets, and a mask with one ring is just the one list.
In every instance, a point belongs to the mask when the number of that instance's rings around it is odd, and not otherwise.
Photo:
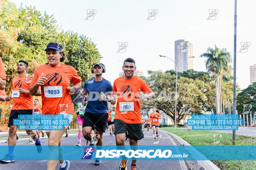
[[(158, 137), (158, 128), (161, 119), (160, 112), (152, 109), (152, 113), (145, 120), (141, 116), (140, 101), (153, 99), (155, 95), (147, 83), (134, 76), (136, 71), (135, 61), (132, 58), (125, 59), (122, 70), (124, 76), (117, 78), (113, 86), (111, 82), (102, 77), (106, 72), (105, 65), (97, 62), (92, 65), (91, 73), (94, 77), (84, 83), (82, 101), (78, 102), (78, 109), (74, 112), (74, 105), (71, 95), (81, 88), (81, 78), (75, 68), (66, 65), (64, 62), (64, 49), (58, 42), (50, 42), (47, 45), (46, 57), (48, 62), (38, 66), (33, 76), (26, 74), (29, 68), (28, 62), (20, 60), (17, 63), (18, 76), (12, 79), (12, 93), (7, 96), (4, 88), (6, 84), (6, 73), (3, 62), (0, 58), (0, 101), (13, 100), (13, 105), (9, 113), (8, 142), (9, 151), (1, 163), (11, 163), (15, 161), (13, 152), (15, 149), (17, 126), (13, 124), (13, 119), (17, 119), (20, 114), (62, 114), (64, 119), (68, 119), (69, 124), (74, 113), (77, 115), (79, 127), (78, 142), (76, 146), (81, 146), (81, 139), (86, 139), (86, 145), (96, 144), (97, 148), (103, 145), (102, 136), (109, 129), (110, 135), (115, 137), (116, 145), (125, 145), (125, 140), (130, 145), (138, 145), (138, 140), (143, 139), (145, 125), (147, 131), (153, 129), (153, 140)], [(72, 82), (72, 86), (70, 86)], [(54, 91), (56, 93), (51, 93)], [(41, 103), (33, 96), (41, 96)], [(38, 98), (38, 97), (37, 97)], [(111, 107), (108, 107), (108, 102)], [(61, 146), (61, 137), (66, 132), (64, 130), (45, 130), (48, 136), (49, 146)], [(94, 135), (92, 133), (94, 130)], [(35, 143), (38, 153), (42, 151), (40, 138), (44, 137), (42, 130), (26, 130), (31, 136), (29, 143)], [(49, 147), (50, 148), (50, 147)], [(56, 154), (49, 149), (49, 154)], [(59, 154), (63, 154), (61, 151)], [(48, 170), (55, 170), (56, 160), (47, 162)], [(60, 160), (60, 170), (68, 170), (70, 161)], [(119, 170), (127, 170), (127, 160), (122, 160)], [(96, 159), (94, 165), (101, 165), (101, 160)], [(131, 170), (137, 170), (136, 160), (131, 161)]]

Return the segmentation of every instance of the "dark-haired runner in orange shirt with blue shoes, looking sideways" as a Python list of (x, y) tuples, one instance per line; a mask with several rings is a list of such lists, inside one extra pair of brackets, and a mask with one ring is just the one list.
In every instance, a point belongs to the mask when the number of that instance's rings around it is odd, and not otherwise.
[[(33, 97), (29, 93), (29, 85), (31, 81), (29, 81), (28, 75), (26, 71), (28, 69), (28, 62), (24, 60), (20, 60), (17, 64), (17, 72), (18, 76), (12, 79), (12, 94), (6, 97), (6, 100), (13, 99), (12, 111), (9, 117), (8, 127), (9, 136), (8, 136), (8, 145), (9, 145), (9, 153), (6, 157), (0, 160), (1, 163), (11, 163), (14, 162), (13, 159), (13, 150), (16, 145), (16, 132), (17, 126), (13, 125), (13, 119), (17, 119), (20, 114), (33, 114), (34, 105), (33, 105)], [(35, 96), (40, 96), (41, 91), (38, 91), (34, 94)], [(28, 135), (33, 135), (32, 138), (36, 140), (35, 144), (38, 146), (38, 152), (40, 153), (42, 150), (41, 142), (37, 137), (35, 130), (26, 130)]]

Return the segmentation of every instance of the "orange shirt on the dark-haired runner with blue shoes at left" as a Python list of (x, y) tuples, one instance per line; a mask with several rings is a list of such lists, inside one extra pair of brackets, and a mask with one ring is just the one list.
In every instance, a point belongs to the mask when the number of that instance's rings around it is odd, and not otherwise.
[[(12, 79), (12, 93), (19, 91), (20, 88), (29, 91), (30, 83), (26, 76), (17, 76)], [(18, 92), (17, 92), (18, 93)], [(34, 109), (33, 97), (30, 94), (20, 94), (13, 98), (12, 110), (31, 110)]]

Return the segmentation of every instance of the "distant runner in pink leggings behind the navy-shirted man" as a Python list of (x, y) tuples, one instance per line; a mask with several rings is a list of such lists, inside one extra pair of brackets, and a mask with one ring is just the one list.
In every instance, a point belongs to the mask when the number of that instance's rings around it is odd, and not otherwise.
[[(85, 113), (85, 108), (86, 105), (84, 106), (82, 102), (77, 103), (78, 108), (77, 111), (75, 112), (77, 114), (77, 125), (78, 125), (78, 140), (79, 142), (76, 144), (76, 146), (81, 146), (81, 138), (82, 138), (82, 130), (83, 130), (83, 122), (84, 122), (84, 113)], [(86, 146), (89, 145), (89, 141), (86, 140)]]

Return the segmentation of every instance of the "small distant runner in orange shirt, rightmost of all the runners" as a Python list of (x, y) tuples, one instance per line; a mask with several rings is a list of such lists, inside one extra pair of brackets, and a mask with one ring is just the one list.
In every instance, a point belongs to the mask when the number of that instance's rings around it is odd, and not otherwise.
[(158, 129), (159, 129), (159, 119), (162, 119), (160, 115), (160, 111), (156, 108), (153, 108), (153, 113), (150, 114), (149, 119), (151, 120), (151, 126), (153, 128), (153, 138), (154, 140), (158, 137)]

